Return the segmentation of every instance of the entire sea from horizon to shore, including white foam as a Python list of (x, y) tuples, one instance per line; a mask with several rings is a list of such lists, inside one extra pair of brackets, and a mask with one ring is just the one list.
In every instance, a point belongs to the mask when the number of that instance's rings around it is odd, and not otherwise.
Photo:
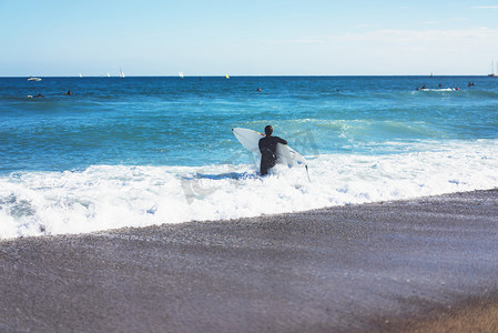
[[(267, 124), (309, 179), (258, 175)], [(496, 78), (0, 78), (0, 239), (497, 186)]]

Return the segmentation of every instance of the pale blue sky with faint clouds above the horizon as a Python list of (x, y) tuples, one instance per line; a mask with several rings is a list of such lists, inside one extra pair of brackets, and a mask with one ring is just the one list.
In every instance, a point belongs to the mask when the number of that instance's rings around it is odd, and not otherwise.
[(498, 1), (0, 0), (0, 77), (486, 74)]

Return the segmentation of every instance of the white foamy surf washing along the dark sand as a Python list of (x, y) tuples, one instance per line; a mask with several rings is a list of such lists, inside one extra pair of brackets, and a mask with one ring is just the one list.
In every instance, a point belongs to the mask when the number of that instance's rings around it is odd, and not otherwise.
[(0, 178), (0, 239), (225, 220), (498, 186), (498, 140), (420, 143), (419, 152), (321, 155), (278, 165), (111, 167)]

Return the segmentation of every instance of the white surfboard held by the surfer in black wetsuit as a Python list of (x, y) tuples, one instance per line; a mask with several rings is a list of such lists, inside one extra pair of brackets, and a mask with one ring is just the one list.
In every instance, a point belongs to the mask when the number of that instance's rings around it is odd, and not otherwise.
[[(265, 134), (260, 132), (235, 128), (232, 129), (235, 138), (244, 145), (247, 150), (253, 153), (261, 154), (260, 152), (260, 139), (264, 138)], [(307, 168), (307, 161), (299, 154), (297, 151), (288, 147), (287, 144), (278, 143), (276, 145), (276, 157), (277, 163), (287, 165), (288, 168), (293, 167), (305, 167)]]

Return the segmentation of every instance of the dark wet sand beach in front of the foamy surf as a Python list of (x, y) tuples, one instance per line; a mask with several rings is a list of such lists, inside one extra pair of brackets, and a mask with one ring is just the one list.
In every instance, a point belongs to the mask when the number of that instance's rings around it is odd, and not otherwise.
[(498, 190), (0, 241), (0, 332), (496, 329)]

